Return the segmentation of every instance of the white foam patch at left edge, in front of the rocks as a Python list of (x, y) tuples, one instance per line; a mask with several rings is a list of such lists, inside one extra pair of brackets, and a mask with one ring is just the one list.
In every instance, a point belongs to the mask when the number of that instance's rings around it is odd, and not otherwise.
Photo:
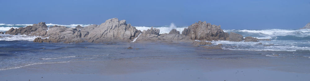
[(4, 41), (13, 41), (13, 40), (27, 40), (27, 41), (33, 41), (35, 38), (39, 36), (27, 36), (27, 35), (8, 35), (8, 34), (2, 34), (1, 40)]

